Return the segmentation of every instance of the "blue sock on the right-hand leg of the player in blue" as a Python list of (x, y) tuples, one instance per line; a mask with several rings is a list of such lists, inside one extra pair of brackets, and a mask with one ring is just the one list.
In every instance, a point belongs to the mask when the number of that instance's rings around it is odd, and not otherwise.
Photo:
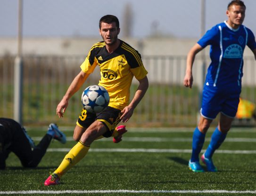
[(216, 127), (214, 133), (212, 134), (212, 139), (209, 146), (206, 149), (205, 157), (211, 159), (216, 149), (218, 149), (223, 141), (226, 138), (227, 133), (222, 133), (219, 131), (218, 127)]

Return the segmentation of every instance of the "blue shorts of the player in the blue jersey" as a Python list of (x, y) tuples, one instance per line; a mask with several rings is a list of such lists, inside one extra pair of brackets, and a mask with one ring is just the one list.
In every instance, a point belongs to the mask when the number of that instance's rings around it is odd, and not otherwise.
[(239, 104), (240, 87), (219, 88), (204, 86), (200, 113), (208, 119), (215, 119), (219, 112), (234, 118)]

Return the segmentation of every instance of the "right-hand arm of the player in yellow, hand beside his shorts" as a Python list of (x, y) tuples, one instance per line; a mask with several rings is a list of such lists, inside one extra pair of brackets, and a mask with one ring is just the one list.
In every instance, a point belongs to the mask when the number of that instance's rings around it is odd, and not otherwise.
[(122, 122), (127, 122), (132, 117), (133, 110), (136, 108), (136, 106), (139, 104), (140, 100), (148, 90), (149, 80), (147, 76), (145, 76), (143, 79), (139, 79), (138, 81), (140, 84), (134, 94), (132, 101), (121, 111), (122, 116), (120, 117), (120, 119), (122, 120)]

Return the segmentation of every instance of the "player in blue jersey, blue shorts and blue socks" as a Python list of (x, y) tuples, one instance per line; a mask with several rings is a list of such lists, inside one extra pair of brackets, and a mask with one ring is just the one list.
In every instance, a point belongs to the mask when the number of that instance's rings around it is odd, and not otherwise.
[(203, 88), (201, 117), (193, 133), (192, 155), (189, 161), (190, 170), (193, 172), (204, 172), (199, 164), (199, 153), (209, 126), (220, 113), (218, 126), (212, 134), (206, 152), (201, 156), (207, 171), (217, 171), (212, 156), (225, 140), (231, 122), (236, 116), (243, 76), (243, 52), (246, 46), (252, 50), (256, 59), (255, 37), (251, 30), (242, 25), (245, 10), (243, 1), (232, 0), (226, 11), (228, 20), (207, 31), (187, 55), (187, 69), (183, 83), (184, 86), (191, 88), (192, 64), (195, 56), (207, 45), (211, 46), (211, 63)]

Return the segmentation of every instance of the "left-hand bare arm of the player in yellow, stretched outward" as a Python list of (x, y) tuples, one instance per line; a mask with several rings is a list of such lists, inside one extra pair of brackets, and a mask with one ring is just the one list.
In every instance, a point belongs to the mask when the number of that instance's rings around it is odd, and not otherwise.
[(77, 92), (83, 83), (85, 82), (86, 78), (88, 78), (89, 74), (83, 71), (80, 71), (77, 76), (74, 78), (70, 86), (68, 87), (66, 94), (63, 96), (62, 100), (59, 102), (57, 106), (57, 115), (59, 118), (63, 117), (63, 114), (68, 106), (68, 100), (72, 97), (75, 92)]

